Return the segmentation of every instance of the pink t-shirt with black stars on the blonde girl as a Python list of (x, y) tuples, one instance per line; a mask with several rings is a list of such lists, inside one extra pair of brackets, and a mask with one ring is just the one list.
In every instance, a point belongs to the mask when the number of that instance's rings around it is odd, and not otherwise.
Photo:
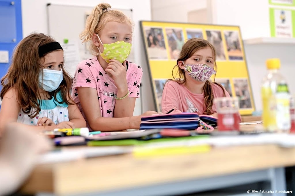
[[(129, 61), (126, 61), (126, 64), (126, 79), (130, 92), (128, 96), (135, 98), (140, 97), (139, 86), (142, 78), (142, 68)], [(116, 99), (114, 99), (113, 96), (117, 94), (117, 87), (114, 84), (114, 80), (110, 78), (101, 67), (96, 56), (80, 62), (73, 78), (72, 97), (73, 100), (78, 103), (78, 107), (86, 120), (80, 105), (77, 87), (95, 88), (97, 90), (101, 116), (113, 117), (113, 110), (116, 103)], [(89, 127), (87, 120), (86, 123), (87, 127)]]

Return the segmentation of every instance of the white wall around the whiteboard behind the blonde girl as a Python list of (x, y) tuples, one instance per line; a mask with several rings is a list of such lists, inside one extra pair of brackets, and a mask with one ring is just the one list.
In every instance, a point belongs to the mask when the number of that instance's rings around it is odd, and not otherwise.
[[(109, 3), (114, 9), (132, 9), (133, 10), (133, 21), (135, 24), (133, 33), (133, 48), (135, 50), (135, 63), (142, 66), (144, 76), (142, 78), (141, 98), (143, 103), (143, 111), (154, 110), (153, 103), (147, 99), (152, 99), (152, 90), (149, 84), (148, 67), (145, 60), (145, 52), (143, 47), (143, 41), (140, 32), (140, 20), (151, 20), (151, 9), (150, 0), (108, 0), (108, 1), (97, 1), (97, 0), (23, 0), (22, 1), (22, 24), (23, 24), (23, 36), (27, 36), (33, 31), (48, 33), (47, 28), (47, 3), (52, 4), (66, 4), (66, 5), (78, 5), (78, 6), (95, 6), (101, 2)], [(144, 8), (144, 9), (143, 9)], [(62, 16), (62, 13), (56, 13)], [(73, 21), (75, 25), (75, 21)], [(144, 91), (143, 91), (144, 89)], [(135, 106), (135, 115), (141, 113), (141, 104), (138, 103)]]

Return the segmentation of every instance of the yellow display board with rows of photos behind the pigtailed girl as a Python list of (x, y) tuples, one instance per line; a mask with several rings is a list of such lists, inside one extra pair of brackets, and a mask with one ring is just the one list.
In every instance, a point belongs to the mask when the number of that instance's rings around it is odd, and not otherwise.
[(158, 112), (161, 111), (164, 84), (173, 78), (172, 69), (183, 43), (197, 37), (208, 40), (215, 47), (215, 81), (221, 83), (230, 96), (239, 98), (241, 115), (252, 114), (255, 105), (239, 26), (160, 21), (140, 21), (140, 26)]

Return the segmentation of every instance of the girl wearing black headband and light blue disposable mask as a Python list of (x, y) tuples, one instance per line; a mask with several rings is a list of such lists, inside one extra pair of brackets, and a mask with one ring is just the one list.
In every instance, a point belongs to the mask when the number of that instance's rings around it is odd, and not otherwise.
[(86, 126), (70, 96), (72, 79), (63, 66), (63, 48), (53, 38), (33, 33), (19, 42), (1, 79), (0, 134), (14, 122), (31, 130)]

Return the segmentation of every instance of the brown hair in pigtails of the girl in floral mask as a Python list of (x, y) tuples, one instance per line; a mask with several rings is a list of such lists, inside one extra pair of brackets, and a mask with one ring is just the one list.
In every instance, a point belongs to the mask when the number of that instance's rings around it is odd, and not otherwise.
[[(186, 59), (190, 58), (196, 51), (202, 49), (202, 48), (211, 48), (212, 49), (212, 53), (213, 53), (213, 60), (214, 60), (214, 68), (215, 71), (217, 71), (217, 66), (216, 66), (216, 52), (215, 52), (215, 48), (214, 46), (209, 43), (207, 40), (204, 39), (199, 39), (199, 38), (191, 38), (188, 41), (186, 41), (185, 44), (183, 44), (181, 52), (179, 54), (179, 58), (177, 59), (177, 64), (176, 66), (173, 67), (172, 70), (172, 76), (174, 81), (176, 81), (179, 84), (184, 84), (186, 83), (186, 77), (185, 77), (185, 72), (183, 69), (181, 69), (178, 66), (178, 61), (185, 61)], [(174, 69), (178, 68), (175, 76), (174, 76)], [(215, 81), (215, 76), (214, 76), (214, 81)], [(212, 114), (212, 105), (213, 105), (213, 99), (214, 99), (214, 95), (212, 92), (212, 83), (217, 84), (218, 86), (220, 86), (223, 90), (223, 95), (225, 96), (225, 91), (224, 88), (221, 84), (216, 83), (216, 82), (210, 82), (209, 80), (207, 80), (205, 82), (205, 85), (203, 87), (203, 92), (204, 92), (204, 108), (206, 108), (205, 110), (205, 114), (206, 115), (211, 115)]]

